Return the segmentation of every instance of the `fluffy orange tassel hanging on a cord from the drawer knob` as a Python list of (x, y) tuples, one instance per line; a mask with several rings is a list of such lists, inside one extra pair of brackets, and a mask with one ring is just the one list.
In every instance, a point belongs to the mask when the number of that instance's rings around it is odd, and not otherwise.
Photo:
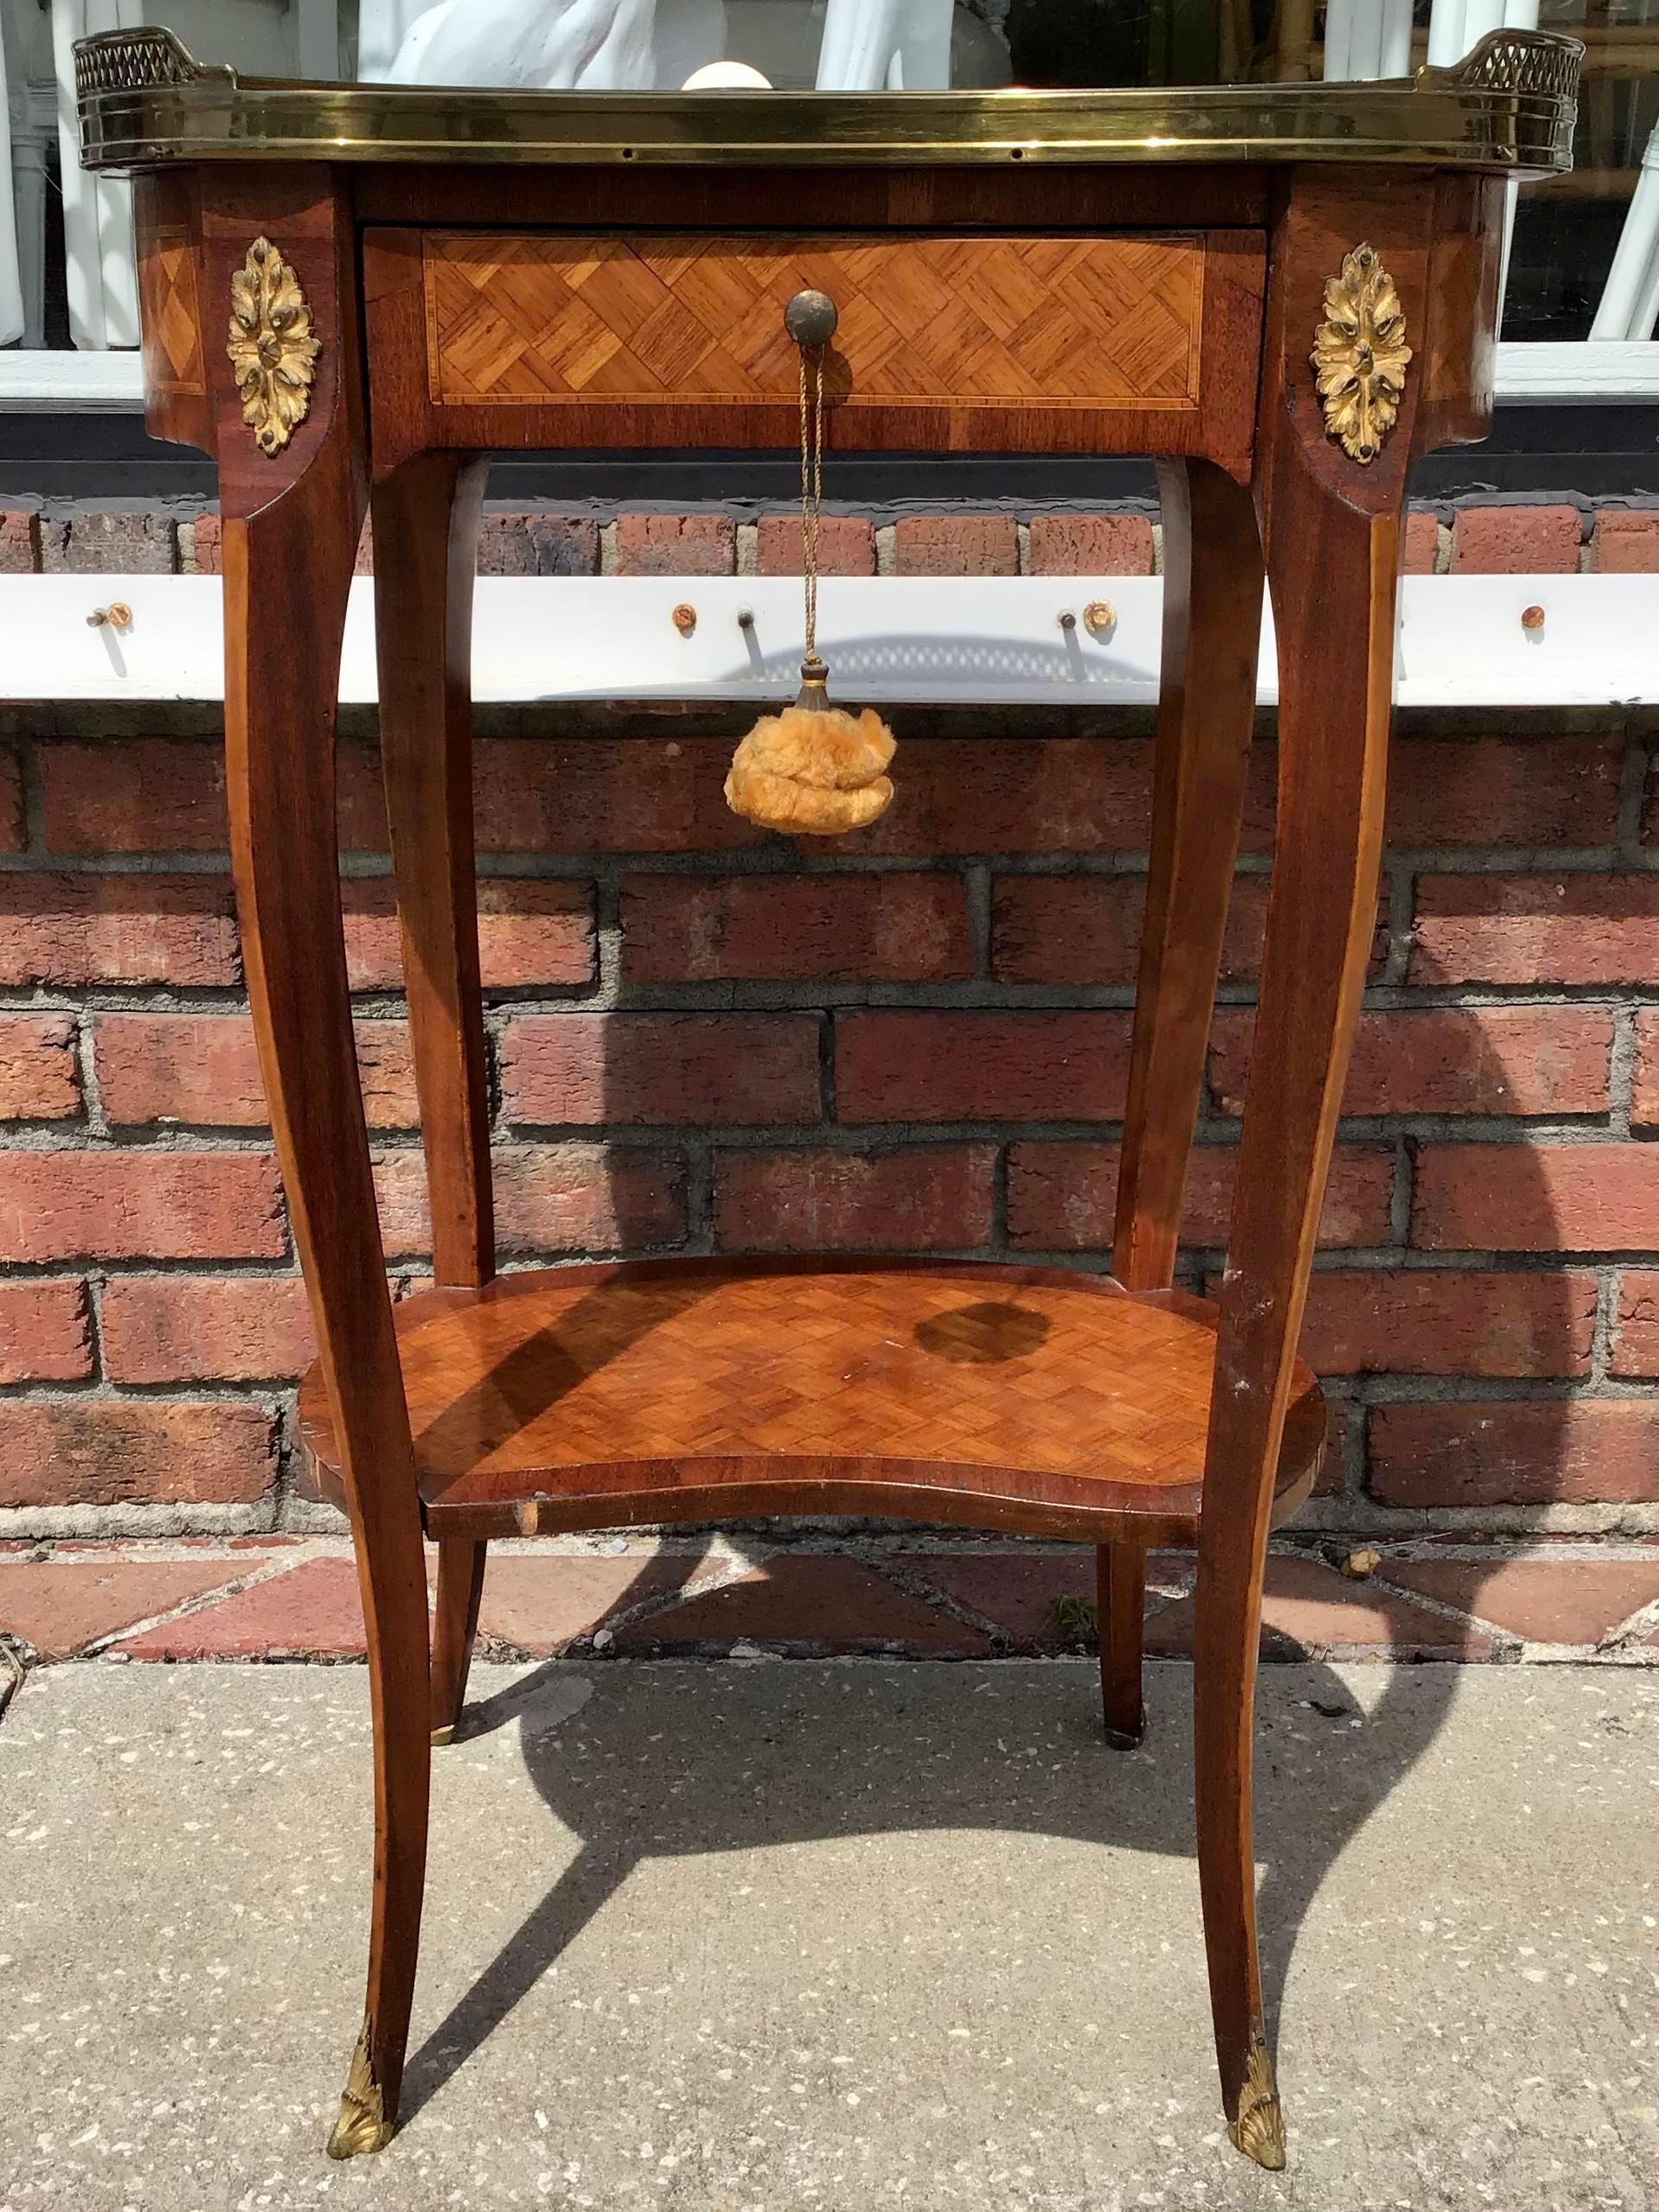
[[(807, 314), (796, 327), (796, 310)], [(843, 836), (867, 830), (894, 803), (887, 765), (896, 739), (874, 708), (847, 714), (830, 703), (830, 670), (818, 659), (818, 518), (823, 513), (823, 347), (834, 332), (834, 305), (821, 294), (790, 301), (792, 336), (801, 341), (801, 546), (805, 566), (807, 657), (801, 695), (781, 714), (765, 714), (737, 748), (726, 779), (726, 805), (761, 830), (785, 836)], [(823, 327), (827, 321), (827, 330)], [(823, 330), (823, 336), (803, 332)]]

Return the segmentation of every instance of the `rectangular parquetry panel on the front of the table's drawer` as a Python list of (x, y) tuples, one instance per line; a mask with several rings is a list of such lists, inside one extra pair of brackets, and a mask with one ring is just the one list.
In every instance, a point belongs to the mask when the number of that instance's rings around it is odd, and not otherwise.
[(1192, 409), (1194, 237), (491, 237), (425, 241), (438, 405), (794, 403), (783, 307), (841, 310), (847, 407)]

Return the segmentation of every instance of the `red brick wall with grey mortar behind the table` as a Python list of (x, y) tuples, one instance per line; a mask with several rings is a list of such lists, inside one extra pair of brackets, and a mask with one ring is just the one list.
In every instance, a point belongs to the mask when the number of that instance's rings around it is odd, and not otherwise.
[[(1509, 515), (1511, 538), (1473, 515)], [(637, 520), (493, 518), (491, 564), (787, 566), (792, 551), (783, 518), (759, 542), (719, 515)], [(880, 542), (843, 520), (849, 564), (1152, 557), (1128, 515), (914, 518)], [(33, 520), (22, 535), (38, 557)], [(1425, 566), (1493, 564), (1515, 542), (1513, 566), (1568, 551), (1630, 566), (1659, 549), (1659, 515), (1467, 509), (1416, 531)], [(723, 807), (745, 721), (480, 714), (507, 1254), (1099, 1265), (1148, 719), (898, 714), (891, 816), (805, 858)], [(310, 1332), (241, 998), (215, 712), (9, 710), (0, 734), (0, 1535), (303, 1520), (288, 1387)], [(1652, 737), (1617, 712), (1402, 717), (1307, 1325), (1343, 1416), (1327, 1526), (1659, 1520)], [(427, 1230), (361, 717), (341, 768), (365, 1088), (407, 1281)], [(1270, 836), (1265, 730), (1190, 1281), (1214, 1274), (1225, 1234)]]

